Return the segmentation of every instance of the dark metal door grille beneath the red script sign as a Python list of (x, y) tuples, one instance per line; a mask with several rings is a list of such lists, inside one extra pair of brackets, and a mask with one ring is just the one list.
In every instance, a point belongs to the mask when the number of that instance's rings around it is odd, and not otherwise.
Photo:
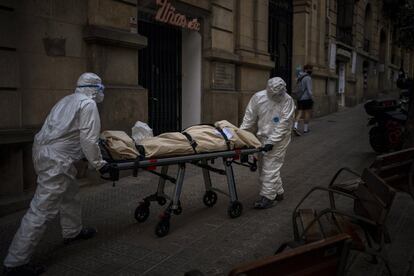
[(154, 134), (181, 129), (181, 30), (139, 21), (148, 46), (139, 52), (139, 83), (148, 89), (148, 120)]

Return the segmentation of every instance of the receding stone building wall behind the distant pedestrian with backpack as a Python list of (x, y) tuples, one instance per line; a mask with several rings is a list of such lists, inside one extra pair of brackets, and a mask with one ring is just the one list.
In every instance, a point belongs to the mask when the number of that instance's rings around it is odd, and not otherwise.
[[(294, 0), (293, 68), (314, 65), (314, 116), (337, 110), (338, 64), (345, 64), (345, 105), (353, 106), (381, 92), (396, 89), (396, 76), (403, 55), (406, 72), (412, 66), (412, 54), (398, 48), (393, 40), (392, 23), (383, 16), (382, 1), (360, 0), (353, 3), (352, 43), (338, 39), (337, 0)], [(365, 11), (371, 7), (371, 35), (369, 49), (364, 49)], [(381, 44), (381, 31), (385, 34)], [(395, 35), (394, 35), (395, 36)], [(383, 58), (381, 58), (383, 56)], [(366, 79), (364, 64), (368, 63)]]

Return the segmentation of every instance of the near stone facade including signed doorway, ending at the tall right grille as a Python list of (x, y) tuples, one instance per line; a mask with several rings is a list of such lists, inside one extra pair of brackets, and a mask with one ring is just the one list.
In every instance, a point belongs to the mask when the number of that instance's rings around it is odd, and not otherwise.
[(0, 215), (27, 206), (36, 185), (34, 134), (85, 71), (106, 86), (98, 106), (102, 130), (130, 133), (138, 120), (156, 133), (219, 119), (239, 124), (274, 64), (267, 7), (235, 0), (1, 0)]

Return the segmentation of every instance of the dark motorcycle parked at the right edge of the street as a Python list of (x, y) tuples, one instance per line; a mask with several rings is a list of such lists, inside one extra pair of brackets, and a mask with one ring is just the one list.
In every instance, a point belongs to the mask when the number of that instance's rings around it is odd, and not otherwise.
[(377, 153), (400, 150), (403, 146), (405, 122), (408, 112), (408, 91), (401, 93), (400, 99), (370, 100), (364, 105), (372, 117), (368, 125), (369, 143)]

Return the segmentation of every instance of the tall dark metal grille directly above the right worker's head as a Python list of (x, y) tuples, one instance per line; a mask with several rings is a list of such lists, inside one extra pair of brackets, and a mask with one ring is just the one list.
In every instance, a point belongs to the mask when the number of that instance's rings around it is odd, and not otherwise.
[(292, 81), (292, 18), (291, 0), (269, 1), (269, 40), (271, 60), (275, 62), (271, 77), (281, 77), (290, 91)]

